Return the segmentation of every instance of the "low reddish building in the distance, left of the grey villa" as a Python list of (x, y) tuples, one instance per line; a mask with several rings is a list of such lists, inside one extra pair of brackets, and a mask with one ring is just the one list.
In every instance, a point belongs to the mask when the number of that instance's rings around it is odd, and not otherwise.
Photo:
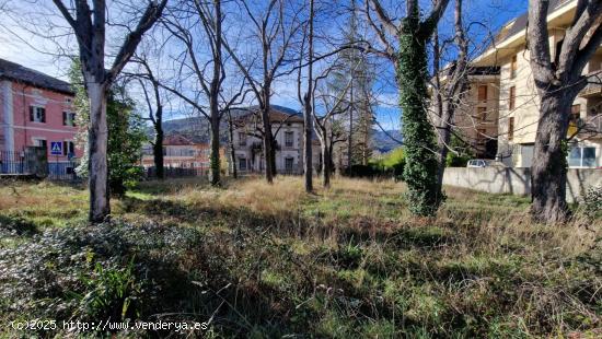
[[(210, 148), (208, 143), (196, 143), (184, 136), (167, 136), (163, 141), (163, 165), (167, 168), (209, 168)], [(223, 148), (220, 156), (224, 156)], [(146, 144), (142, 149), (142, 166), (154, 166), (152, 145)]]

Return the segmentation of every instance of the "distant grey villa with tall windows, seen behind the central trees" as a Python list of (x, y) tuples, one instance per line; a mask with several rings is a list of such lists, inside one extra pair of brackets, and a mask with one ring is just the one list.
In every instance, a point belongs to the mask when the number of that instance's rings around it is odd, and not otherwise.
[[(276, 172), (279, 174), (303, 173), (303, 117), (294, 110), (271, 106), (271, 132), (276, 140)], [(262, 119), (256, 108), (236, 115), (234, 125), (233, 162), (239, 173), (262, 173), (265, 171)], [(320, 142), (312, 141), (313, 168), (321, 170)], [(229, 154), (230, 155), (230, 154)]]

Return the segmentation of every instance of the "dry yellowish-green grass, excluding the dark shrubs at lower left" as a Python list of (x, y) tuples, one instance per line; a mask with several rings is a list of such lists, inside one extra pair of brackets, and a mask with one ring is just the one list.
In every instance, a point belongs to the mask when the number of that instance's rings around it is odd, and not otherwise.
[[(563, 337), (602, 326), (600, 220), (536, 224), (525, 198), (453, 188), (436, 218), (414, 218), (404, 191), (392, 180), (335, 178), (308, 195), (299, 177), (223, 188), (181, 179), (143, 183), (113, 211), (128, 224), (202, 233), (176, 267), (216, 289), (234, 284), (224, 297), (235, 312), (218, 332)], [(11, 184), (0, 194), (0, 217), (38, 226), (85, 211), (79, 188)], [(221, 303), (186, 297), (171, 302), (204, 316), (215, 309), (199, 304)]]

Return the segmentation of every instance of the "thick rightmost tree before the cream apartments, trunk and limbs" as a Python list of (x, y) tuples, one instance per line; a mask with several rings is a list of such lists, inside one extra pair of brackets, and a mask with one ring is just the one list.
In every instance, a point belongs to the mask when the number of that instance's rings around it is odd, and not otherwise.
[(529, 49), (540, 98), (540, 121), (531, 165), (531, 213), (535, 220), (563, 222), (566, 202), (566, 138), (570, 108), (588, 83), (583, 68), (602, 43), (602, 2), (579, 0), (556, 55), (551, 56), (549, 1), (529, 1)]

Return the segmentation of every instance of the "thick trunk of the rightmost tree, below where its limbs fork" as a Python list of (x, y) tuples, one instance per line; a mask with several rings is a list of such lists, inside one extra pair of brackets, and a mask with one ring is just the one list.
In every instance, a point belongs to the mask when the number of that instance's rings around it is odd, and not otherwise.
[(531, 165), (531, 213), (537, 221), (564, 222), (568, 217), (566, 136), (575, 95), (567, 92), (551, 89), (541, 101)]

